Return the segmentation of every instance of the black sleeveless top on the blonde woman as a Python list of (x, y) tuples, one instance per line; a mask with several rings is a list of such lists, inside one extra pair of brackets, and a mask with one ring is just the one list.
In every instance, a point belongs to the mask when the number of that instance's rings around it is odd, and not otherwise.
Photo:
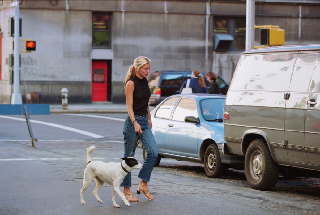
[(150, 98), (150, 89), (146, 78), (139, 79), (134, 76), (130, 79), (134, 83), (132, 109), (135, 115), (148, 114), (148, 103)]

